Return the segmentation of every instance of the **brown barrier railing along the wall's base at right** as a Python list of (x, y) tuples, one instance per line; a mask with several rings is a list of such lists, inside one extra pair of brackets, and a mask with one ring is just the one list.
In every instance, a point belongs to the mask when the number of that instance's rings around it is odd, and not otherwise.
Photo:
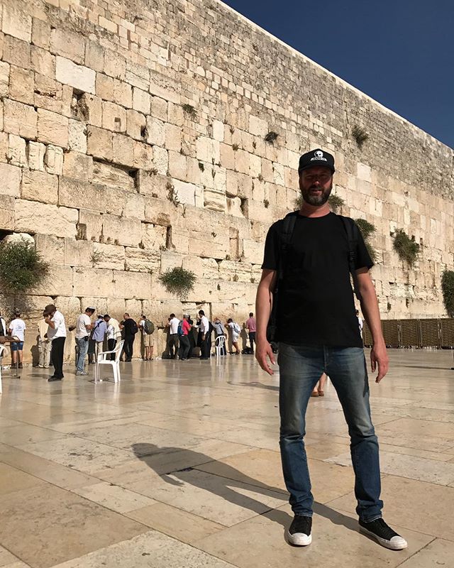
[[(383, 320), (384, 342), (388, 347), (434, 347), (454, 349), (454, 319)], [(367, 347), (372, 345), (370, 329), (364, 323), (362, 338)]]

